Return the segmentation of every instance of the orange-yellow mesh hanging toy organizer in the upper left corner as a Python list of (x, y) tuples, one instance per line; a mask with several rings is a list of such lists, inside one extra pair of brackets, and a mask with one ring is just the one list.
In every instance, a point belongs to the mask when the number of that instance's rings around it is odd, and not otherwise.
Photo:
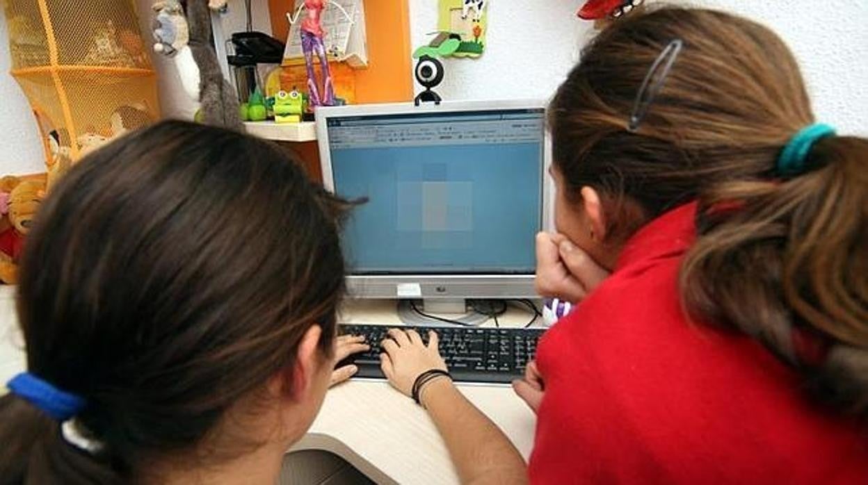
[(159, 117), (131, 0), (3, 0), (3, 7), (11, 75), (36, 115), (49, 165), (52, 134), (76, 161)]

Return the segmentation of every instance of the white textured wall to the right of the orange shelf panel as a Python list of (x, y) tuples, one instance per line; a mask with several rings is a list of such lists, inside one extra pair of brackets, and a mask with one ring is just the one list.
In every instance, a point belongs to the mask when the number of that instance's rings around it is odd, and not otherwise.
[[(447, 59), (437, 92), (447, 100), (548, 98), (592, 35), (590, 23), (575, 17), (582, 3), (491, 0), (485, 54), (475, 60)], [(868, 1), (680, 3), (730, 10), (772, 27), (801, 62), (818, 119), (841, 133), (868, 135)], [(415, 48), (437, 29), (437, 1), (410, 0), (410, 14)]]

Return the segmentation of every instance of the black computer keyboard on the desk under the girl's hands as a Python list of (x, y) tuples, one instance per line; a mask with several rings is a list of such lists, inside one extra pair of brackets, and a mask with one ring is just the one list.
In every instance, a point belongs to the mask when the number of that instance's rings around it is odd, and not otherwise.
[[(380, 370), (380, 342), (386, 338), (385, 325), (340, 325), (342, 334), (364, 335), (371, 350), (345, 359), (339, 365), (356, 364), (356, 377), (385, 379)], [(524, 367), (536, 355), (536, 342), (544, 329), (476, 327), (398, 327), (419, 332), (425, 344), (428, 331), (440, 338), (440, 355), (457, 382), (510, 383), (523, 377)]]

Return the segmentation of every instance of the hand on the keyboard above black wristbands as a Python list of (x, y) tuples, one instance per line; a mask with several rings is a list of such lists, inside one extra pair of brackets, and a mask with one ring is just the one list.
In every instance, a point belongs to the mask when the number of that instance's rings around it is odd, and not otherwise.
[(446, 369), (446, 363), (437, 350), (437, 333), (429, 331), (428, 344), (414, 330), (390, 329), (389, 338), (381, 344), (384, 353), (380, 354), (380, 364), (385, 377), (395, 389), (411, 396), (413, 383), (426, 370)]

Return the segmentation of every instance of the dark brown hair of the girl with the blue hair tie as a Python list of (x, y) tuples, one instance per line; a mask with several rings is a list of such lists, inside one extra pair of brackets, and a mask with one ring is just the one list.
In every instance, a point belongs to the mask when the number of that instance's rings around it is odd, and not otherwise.
[(18, 315), (29, 371), (87, 400), (76, 423), (105, 449), (74, 449), (8, 395), (3, 482), (132, 482), (291, 371), (312, 324), (330, 357), (344, 207), (278, 147), (221, 128), (162, 122), (82, 160), (37, 216)]

